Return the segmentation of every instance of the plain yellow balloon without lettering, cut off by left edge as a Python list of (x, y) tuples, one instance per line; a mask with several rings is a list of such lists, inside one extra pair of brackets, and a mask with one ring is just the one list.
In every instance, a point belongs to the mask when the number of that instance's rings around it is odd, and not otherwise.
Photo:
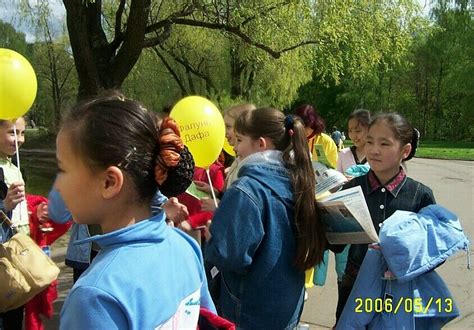
[(23, 116), (36, 97), (33, 67), (21, 54), (0, 48), (0, 119)]

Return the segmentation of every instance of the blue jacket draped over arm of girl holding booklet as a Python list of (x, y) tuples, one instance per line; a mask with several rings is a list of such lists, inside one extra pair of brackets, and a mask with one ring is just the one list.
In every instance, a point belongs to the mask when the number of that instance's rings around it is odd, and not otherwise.
[[(434, 269), (468, 246), (456, 215), (439, 205), (396, 211), (380, 229), (380, 250), (368, 250), (337, 329), (440, 329), (459, 311)], [(383, 279), (387, 269), (394, 279)]]

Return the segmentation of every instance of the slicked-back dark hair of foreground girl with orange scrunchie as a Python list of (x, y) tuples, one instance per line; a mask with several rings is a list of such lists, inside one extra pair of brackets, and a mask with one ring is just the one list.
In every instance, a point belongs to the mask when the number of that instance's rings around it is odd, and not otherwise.
[[(160, 124), (157, 115), (139, 102), (107, 91), (71, 109), (63, 120), (62, 131), (68, 134), (75, 153), (91, 170), (118, 166), (133, 182), (137, 199), (150, 203), (158, 188), (155, 168), (161, 157)], [(178, 148), (176, 152), (179, 159), (187, 149)], [(191, 178), (193, 169), (194, 163)], [(169, 173), (159, 186), (163, 194), (162, 188), (170, 180), (176, 180), (176, 175)]]

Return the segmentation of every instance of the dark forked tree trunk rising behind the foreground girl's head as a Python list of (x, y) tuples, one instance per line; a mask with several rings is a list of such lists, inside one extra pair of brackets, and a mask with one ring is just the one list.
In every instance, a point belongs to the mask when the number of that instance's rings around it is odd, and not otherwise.
[(78, 99), (122, 87), (143, 49), (150, 1), (131, 1), (126, 30), (108, 43), (102, 28), (101, 0), (63, 0), (80, 82)]

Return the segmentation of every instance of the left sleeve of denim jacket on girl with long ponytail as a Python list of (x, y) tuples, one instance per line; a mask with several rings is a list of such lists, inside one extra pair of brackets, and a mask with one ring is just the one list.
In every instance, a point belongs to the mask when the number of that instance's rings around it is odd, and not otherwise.
[(256, 201), (236, 186), (224, 194), (210, 227), (206, 259), (221, 271), (245, 272), (265, 231)]

